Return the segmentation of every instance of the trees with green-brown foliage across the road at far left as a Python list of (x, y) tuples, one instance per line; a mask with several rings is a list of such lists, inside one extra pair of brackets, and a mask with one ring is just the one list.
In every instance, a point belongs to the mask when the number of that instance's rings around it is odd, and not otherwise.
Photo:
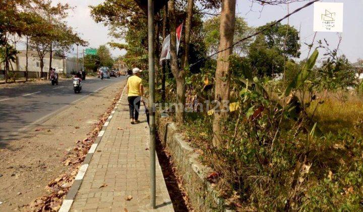
[(25, 80), (28, 80), (28, 52), (36, 51), (40, 61), (40, 76), (44, 77), (44, 57), (49, 54), (49, 67), (52, 56), (65, 57), (64, 52), (73, 44), (86, 46), (65, 18), (72, 8), (68, 4), (54, 5), (50, 0), (10, 0), (0, 3), (0, 64), (4, 64), (5, 82), (17, 78), (16, 42), (23, 42), (26, 48)]

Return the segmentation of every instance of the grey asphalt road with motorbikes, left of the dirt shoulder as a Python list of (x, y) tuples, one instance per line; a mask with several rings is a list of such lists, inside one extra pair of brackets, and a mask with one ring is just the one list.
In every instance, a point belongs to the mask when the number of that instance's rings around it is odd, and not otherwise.
[(121, 76), (104, 80), (86, 79), (82, 82), (81, 93), (74, 93), (72, 79), (59, 81), (59, 84), (54, 86), (49, 82), (0, 88), (0, 146), (26, 134), (27, 130), (36, 127), (73, 102), (125, 78)]

